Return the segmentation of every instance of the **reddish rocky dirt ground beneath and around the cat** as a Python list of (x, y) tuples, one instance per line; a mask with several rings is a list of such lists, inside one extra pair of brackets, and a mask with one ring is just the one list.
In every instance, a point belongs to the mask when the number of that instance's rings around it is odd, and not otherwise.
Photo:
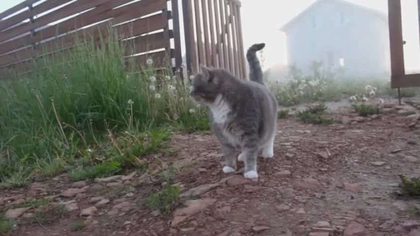
[[(19, 222), (6, 235), (420, 236), (411, 210), (420, 202), (396, 194), (399, 174), (420, 176), (420, 117), (408, 106), (384, 110), (360, 118), (334, 109), (329, 116), (343, 124), (330, 126), (279, 119), (275, 156), (259, 160), (258, 180), (223, 174), (211, 134), (176, 135), (174, 152), (153, 156), (180, 170), (184, 201), (169, 215), (143, 203), (164, 184), (149, 174), (80, 182), (61, 175), (1, 191), (0, 211)], [(23, 204), (40, 198), (49, 204)]]

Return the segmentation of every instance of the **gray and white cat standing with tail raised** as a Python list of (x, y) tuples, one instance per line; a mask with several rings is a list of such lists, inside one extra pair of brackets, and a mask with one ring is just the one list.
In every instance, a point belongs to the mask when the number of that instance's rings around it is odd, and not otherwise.
[(266, 88), (256, 52), (264, 43), (252, 45), (246, 54), (250, 81), (240, 80), (220, 68), (201, 65), (194, 76), (190, 96), (209, 108), (210, 127), (220, 142), (225, 156), (224, 173), (236, 171), (235, 150), (245, 162), (244, 177), (258, 178), (257, 158), (273, 157), (276, 133), (277, 101)]

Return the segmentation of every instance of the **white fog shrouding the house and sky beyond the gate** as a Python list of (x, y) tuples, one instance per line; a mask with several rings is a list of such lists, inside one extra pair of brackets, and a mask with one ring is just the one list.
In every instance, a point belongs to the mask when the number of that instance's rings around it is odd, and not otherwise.
[[(348, 77), (390, 74), (387, 0), (241, 2), (244, 45), (267, 43), (271, 80), (281, 80), (291, 65), (309, 72), (311, 61)], [(406, 73), (420, 71), (417, 0), (402, 1), (402, 23)]]

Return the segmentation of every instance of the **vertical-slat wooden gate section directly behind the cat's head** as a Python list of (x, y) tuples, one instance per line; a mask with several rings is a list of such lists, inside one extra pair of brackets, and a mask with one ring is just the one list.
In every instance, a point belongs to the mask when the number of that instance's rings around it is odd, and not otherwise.
[(222, 67), (245, 78), (239, 0), (183, 0), (186, 62)]

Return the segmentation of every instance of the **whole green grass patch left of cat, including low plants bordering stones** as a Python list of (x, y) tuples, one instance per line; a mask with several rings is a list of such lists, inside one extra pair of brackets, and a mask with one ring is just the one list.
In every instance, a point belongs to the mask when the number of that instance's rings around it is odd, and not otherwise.
[[(37, 59), (33, 72), (1, 81), (0, 187), (24, 186), (35, 174), (83, 179), (145, 168), (138, 160), (165, 148), (168, 127), (209, 129), (188, 80), (124, 61), (132, 45), (110, 34), (106, 47), (86, 36), (71, 51)], [(114, 161), (120, 166), (110, 167)]]

